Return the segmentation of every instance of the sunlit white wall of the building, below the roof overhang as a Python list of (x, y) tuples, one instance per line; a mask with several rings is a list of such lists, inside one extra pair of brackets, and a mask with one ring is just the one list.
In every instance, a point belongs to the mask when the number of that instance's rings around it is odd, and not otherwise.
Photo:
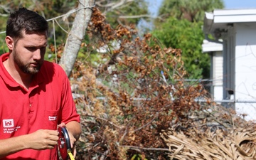
[(236, 23), (235, 31), (235, 109), (256, 119), (256, 23)]

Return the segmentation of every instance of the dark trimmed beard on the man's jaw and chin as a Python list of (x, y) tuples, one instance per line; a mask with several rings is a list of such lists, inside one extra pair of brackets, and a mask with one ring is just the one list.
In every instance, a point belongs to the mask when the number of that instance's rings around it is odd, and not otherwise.
[(23, 73), (27, 73), (27, 74), (31, 74), (34, 75), (36, 73), (39, 72), (41, 66), (42, 66), (42, 62), (41, 61), (37, 61), (37, 62), (33, 62), (33, 63), (37, 63), (36, 67), (31, 67), (31, 63), (23, 63), (21, 61), (20, 55), (17, 54), (16, 50), (13, 50), (14, 53), (14, 62), (16, 63), (16, 65), (18, 65), (18, 68), (23, 72)]

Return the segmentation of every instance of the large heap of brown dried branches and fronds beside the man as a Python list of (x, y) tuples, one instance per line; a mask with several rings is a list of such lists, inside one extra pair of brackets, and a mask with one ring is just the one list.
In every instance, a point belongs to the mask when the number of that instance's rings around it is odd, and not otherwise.
[(74, 67), (83, 129), (76, 159), (217, 159), (230, 156), (225, 149), (255, 158), (255, 126), (245, 135), (250, 149), (236, 141), (246, 122), (210, 102), (200, 83), (183, 82), (181, 50), (161, 48), (150, 34), (139, 38), (133, 26), (113, 29), (97, 9), (87, 35), (85, 54), (108, 51), (98, 53), (105, 61), (97, 67), (85, 61)]

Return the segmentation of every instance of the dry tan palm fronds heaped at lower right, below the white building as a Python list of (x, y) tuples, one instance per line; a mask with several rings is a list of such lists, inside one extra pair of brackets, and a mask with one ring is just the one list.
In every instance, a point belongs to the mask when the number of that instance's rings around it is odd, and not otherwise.
[[(220, 118), (223, 114), (194, 112), (186, 124), (179, 124), (179, 127), (176, 124), (164, 131), (161, 137), (169, 146), (170, 159), (256, 159), (256, 124), (231, 114), (226, 119)], [(231, 124), (230, 119), (236, 119), (238, 125)]]

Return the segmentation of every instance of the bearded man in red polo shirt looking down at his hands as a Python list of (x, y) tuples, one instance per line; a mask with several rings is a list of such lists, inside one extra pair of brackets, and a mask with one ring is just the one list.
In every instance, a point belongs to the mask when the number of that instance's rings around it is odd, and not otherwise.
[(9, 53), (0, 56), (0, 159), (58, 159), (58, 125), (71, 146), (81, 134), (70, 83), (59, 65), (43, 59), (48, 23), (28, 9), (10, 15)]

